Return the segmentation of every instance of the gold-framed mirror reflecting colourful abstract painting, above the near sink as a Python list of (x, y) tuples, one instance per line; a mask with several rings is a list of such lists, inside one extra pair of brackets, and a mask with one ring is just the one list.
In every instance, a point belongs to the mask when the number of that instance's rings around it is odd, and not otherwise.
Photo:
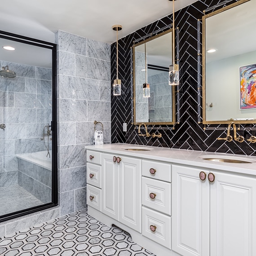
[(203, 124), (256, 123), (256, 1), (203, 16)]

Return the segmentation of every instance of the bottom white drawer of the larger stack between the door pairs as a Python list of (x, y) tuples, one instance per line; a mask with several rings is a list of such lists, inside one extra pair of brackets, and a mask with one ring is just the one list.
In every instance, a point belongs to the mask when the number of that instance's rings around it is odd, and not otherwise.
[(142, 207), (142, 235), (171, 249), (171, 217)]

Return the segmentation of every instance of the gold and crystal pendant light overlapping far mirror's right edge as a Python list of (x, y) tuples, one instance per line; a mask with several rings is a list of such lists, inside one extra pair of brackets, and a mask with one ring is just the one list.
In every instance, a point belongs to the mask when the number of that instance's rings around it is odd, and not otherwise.
[(174, 26), (174, 1), (172, 1), (172, 65), (169, 66), (169, 85), (175, 86), (180, 83), (179, 65), (175, 64), (175, 26)]

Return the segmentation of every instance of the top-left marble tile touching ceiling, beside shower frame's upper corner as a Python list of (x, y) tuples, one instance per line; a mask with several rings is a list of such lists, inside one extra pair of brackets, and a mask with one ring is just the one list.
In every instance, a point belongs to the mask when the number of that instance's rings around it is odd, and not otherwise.
[(80, 55), (87, 55), (87, 39), (59, 30), (56, 33), (58, 50)]

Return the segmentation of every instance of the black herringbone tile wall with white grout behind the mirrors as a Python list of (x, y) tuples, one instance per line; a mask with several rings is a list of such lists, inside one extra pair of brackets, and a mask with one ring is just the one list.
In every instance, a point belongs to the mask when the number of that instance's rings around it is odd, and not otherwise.
[[(230, 2), (234, 3), (236, 0)], [(176, 13), (175, 26), (179, 27), (180, 47), (180, 124), (175, 130), (154, 130), (163, 137), (152, 138), (138, 136), (132, 125), (132, 82), (131, 82), (131, 47), (134, 40), (148, 35), (172, 23), (172, 14), (120, 39), (119, 42), (119, 79), (122, 80), (122, 95), (111, 96), (111, 141), (112, 143), (130, 143), (147, 146), (160, 146), (187, 150), (201, 150), (230, 154), (256, 155), (256, 143), (236, 141), (217, 141), (225, 137), (226, 131), (203, 130), (203, 124), (197, 119), (197, 21), (202, 19), (203, 10), (222, 0), (200, 0)], [(223, 5), (224, 6), (224, 5)], [(171, 12), (171, 11), (170, 11)], [(125, 28), (123, 28), (125, 29)], [(111, 45), (111, 81), (116, 76), (116, 43)], [(113, 92), (111, 92), (113, 95)], [(201, 99), (202, 100), (202, 99)], [(127, 123), (127, 132), (123, 132), (123, 123)], [(247, 125), (250, 126), (250, 125)], [(211, 125), (214, 127), (214, 125)], [(227, 127), (218, 125), (216, 127)], [(150, 129), (149, 129), (150, 132)], [(246, 139), (255, 135), (255, 131), (238, 131)]]

